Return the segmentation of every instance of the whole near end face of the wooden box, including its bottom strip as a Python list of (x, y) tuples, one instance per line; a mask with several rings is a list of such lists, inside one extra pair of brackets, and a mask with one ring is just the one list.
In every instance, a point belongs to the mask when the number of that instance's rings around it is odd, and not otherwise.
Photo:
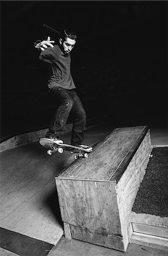
[(124, 251), (115, 182), (56, 179), (56, 186), (66, 237)]

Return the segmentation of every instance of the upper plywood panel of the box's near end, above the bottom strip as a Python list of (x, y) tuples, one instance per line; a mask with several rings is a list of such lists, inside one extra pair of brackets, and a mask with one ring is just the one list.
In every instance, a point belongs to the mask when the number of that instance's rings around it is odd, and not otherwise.
[(99, 233), (121, 234), (115, 183), (56, 179), (62, 221)]

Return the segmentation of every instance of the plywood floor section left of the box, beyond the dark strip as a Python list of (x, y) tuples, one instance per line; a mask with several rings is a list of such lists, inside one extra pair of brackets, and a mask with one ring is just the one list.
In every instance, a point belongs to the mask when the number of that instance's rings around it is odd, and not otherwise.
[(1, 228), (52, 244), (60, 239), (54, 176), (65, 155), (49, 158), (39, 143), (1, 153)]

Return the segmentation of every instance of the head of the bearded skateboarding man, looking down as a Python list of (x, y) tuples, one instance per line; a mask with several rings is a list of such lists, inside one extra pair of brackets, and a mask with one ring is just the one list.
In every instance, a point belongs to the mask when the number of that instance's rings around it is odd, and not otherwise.
[(66, 55), (68, 55), (77, 42), (77, 35), (71, 30), (64, 30), (60, 38), (60, 45)]

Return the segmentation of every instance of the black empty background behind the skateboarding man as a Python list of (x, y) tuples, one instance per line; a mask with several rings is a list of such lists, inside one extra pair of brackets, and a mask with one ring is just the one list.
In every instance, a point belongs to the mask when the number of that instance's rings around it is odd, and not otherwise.
[(58, 39), (43, 24), (78, 35), (72, 76), (87, 119), (166, 125), (166, 1), (1, 1), (1, 141), (47, 128), (56, 109), (33, 47)]

